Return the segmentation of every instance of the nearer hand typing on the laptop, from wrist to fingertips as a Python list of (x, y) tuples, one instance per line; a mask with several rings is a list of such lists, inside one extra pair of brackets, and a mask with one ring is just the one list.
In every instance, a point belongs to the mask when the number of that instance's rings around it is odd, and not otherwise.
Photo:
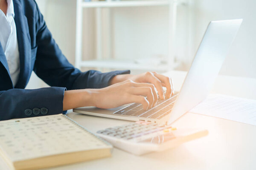
[(142, 104), (146, 110), (154, 107), (158, 99), (153, 84), (136, 83), (131, 80), (92, 90), (95, 93), (93, 101), (97, 108), (116, 108), (135, 102)]

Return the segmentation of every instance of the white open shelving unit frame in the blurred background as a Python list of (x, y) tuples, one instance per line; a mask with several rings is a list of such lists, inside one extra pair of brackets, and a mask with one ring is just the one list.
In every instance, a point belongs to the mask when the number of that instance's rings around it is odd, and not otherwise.
[[(176, 14), (177, 5), (184, 0), (106, 0), (97, 2), (85, 2), (76, 0), (76, 68), (112, 68), (112, 69), (134, 69), (144, 71), (168, 71), (172, 70), (177, 63), (174, 63), (175, 55), (175, 34), (176, 34)], [(186, 1), (186, 0), (185, 0)], [(143, 7), (143, 6), (168, 6), (169, 8), (169, 34), (168, 47), (169, 54), (166, 64), (145, 65), (137, 64), (134, 61), (118, 61), (116, 59), (102, 60), (102, 8), (111, 7)], [(82, 32), (83, 32), (83, 8), (96, 8), (96, 59), (82, 60)], [(110, 10), (109, 10), (110, 11)], [(106, 18), (111, 18), (110, 12), (105, 14)], [(110, 33), (111, 34), (111, 33)], [(108, 38), (111, 42), (111, 37)], [(111, 44), (111, 43), (110, 43)], [(110, 47), (114, 49), (114, 47)]]

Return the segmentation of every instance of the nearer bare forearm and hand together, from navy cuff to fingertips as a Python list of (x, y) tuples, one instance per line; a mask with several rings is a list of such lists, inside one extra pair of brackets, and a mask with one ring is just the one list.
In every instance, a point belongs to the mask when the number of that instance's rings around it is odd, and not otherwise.
[(101, 89), (65, 91), (63, 110), (84, 106), (108, 109), (133, 102), (142, 104), (146, 110), (154, 107), (157, 99), (153, 84), (126, 80)]

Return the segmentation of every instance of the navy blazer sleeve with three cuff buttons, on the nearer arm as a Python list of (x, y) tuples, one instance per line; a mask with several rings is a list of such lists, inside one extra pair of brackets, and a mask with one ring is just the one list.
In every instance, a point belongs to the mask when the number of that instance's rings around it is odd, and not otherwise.
[(63, 113), (65, 90), (49, 87), (0, 91), (0, 120)]

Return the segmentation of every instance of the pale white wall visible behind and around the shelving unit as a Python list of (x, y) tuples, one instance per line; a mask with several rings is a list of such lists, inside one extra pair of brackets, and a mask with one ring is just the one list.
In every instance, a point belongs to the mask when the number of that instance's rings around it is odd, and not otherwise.
[[(256, 78), (256, 12), (254, 9), (256, 1), (189, 1), (191, 2), (189, 7), (180, 6), (177, 9), (176, 53), (178, 59), (183, 62), (179, 69), (187, 70), (189, 68), (210, 20), (243, 18), (239, 33), (221, 68), (221, 74)], [(59, 47), (68, 60), (74, 63), (76, 1), (37, 0), (37, 2)], [(113, 44), (115, 46), (112, 54), (114, 57), (136, 59), (167, 55), (169, 30), (167, 7), (113, 8), (111, 10)], [(92, 9), (84, 10), (84, 58), (91, 59), (96, 54), (94, 17)], [(189, 18), (193, 23), (192, 26), (189, 25)], [(188, 42), (189, 31), (192, 35), (192, 43)], [(103, 32), (103, 36), (106, 36), (105, 34)], [(38, 80), (32, 75), (29, 87), (38, 87), (36, 82)]]

